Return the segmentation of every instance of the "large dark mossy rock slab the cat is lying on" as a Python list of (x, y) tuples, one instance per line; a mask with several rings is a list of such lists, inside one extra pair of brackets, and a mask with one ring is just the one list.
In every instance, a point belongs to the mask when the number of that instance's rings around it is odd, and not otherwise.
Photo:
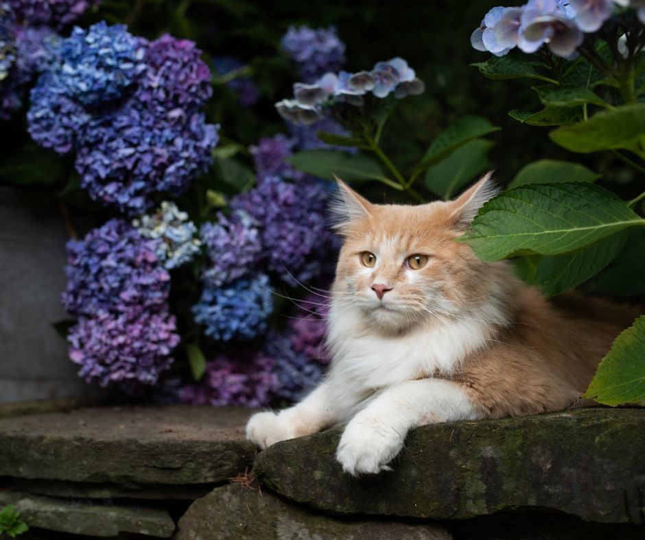
[(254, 471), (323, 511), (467, 519), (552, 508), (587, 521), (643, 524), (645, 409), (593, 408), (423, 426), (393, 471), (352, 478), (334, 459), (341, 428), (283, 441)]

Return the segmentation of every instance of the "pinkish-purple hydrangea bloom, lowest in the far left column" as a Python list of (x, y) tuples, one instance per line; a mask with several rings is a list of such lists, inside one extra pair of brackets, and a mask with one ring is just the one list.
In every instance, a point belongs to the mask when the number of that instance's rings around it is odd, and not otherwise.
[(81, 317), (67, 341), (69, 356), (87, 382), (155, 384), (173, 363), (179, 336), (174, 316), (137, 308)]

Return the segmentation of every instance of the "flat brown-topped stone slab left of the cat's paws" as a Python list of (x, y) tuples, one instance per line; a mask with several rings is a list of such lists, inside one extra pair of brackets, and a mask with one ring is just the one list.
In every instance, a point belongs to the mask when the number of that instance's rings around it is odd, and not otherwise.
[(248, 415), (165, 406), (0, 419), (0, 476), (126, 486), (225, 482), (253, 463)]

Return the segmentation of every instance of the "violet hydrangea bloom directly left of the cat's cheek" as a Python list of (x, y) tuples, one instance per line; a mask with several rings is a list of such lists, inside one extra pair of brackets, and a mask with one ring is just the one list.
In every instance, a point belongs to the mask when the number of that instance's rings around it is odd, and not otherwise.
[(237, 195), (232, 208), (246, 210), (261, 224), (269, 271), (288, 284), (317, 277), (325, 268), (331, 234), (325, 212), (329, 194), (317, 180), (294, 184), (266, 177), (257, 188)]

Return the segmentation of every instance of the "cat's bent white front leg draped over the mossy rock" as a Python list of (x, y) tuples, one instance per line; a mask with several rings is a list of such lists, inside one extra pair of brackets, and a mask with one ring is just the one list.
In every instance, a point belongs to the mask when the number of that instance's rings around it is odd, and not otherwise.
[(463, 386), (443, 379), (409, 380), (373, 397), (345, 428), (336, 459), (358, 476), (390, 470), (408, 431), (423, 424), (476, 419), (479, 415)]

